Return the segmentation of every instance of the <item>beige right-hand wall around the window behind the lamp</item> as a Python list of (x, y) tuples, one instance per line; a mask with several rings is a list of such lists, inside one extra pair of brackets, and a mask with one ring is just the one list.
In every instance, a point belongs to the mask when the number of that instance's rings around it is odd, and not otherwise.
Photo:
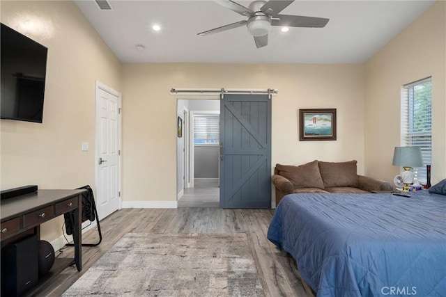
[(393, 180), (401, 145), (401, 86), (432, 77), (432, 182), (446, 177), (446, 2), (421, 17), (365, 63), (366, 174)]

